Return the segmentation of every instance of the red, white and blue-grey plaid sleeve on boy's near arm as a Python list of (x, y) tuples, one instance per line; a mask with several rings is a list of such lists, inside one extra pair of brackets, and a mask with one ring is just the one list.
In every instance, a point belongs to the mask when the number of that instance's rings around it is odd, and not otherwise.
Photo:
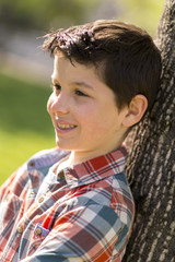
[(62, 215), (38, 249), (21, 261), (119, 262), (128, 231), (113, 209), (96, 204), (80, 206)]

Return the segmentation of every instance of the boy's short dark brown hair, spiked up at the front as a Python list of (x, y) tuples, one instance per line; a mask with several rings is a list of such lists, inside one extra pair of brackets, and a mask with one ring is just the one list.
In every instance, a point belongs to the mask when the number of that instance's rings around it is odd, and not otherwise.
[(121, 109), (142, 94), (148, 108), (154, 103), (161, 76), (161, 55), (143, 29), (116, 20), (98, 20), (58, 29), (45, 36), (43, 48), (51, 55), (62, 51), (71, 62), (94, 64), (116, 95)]

